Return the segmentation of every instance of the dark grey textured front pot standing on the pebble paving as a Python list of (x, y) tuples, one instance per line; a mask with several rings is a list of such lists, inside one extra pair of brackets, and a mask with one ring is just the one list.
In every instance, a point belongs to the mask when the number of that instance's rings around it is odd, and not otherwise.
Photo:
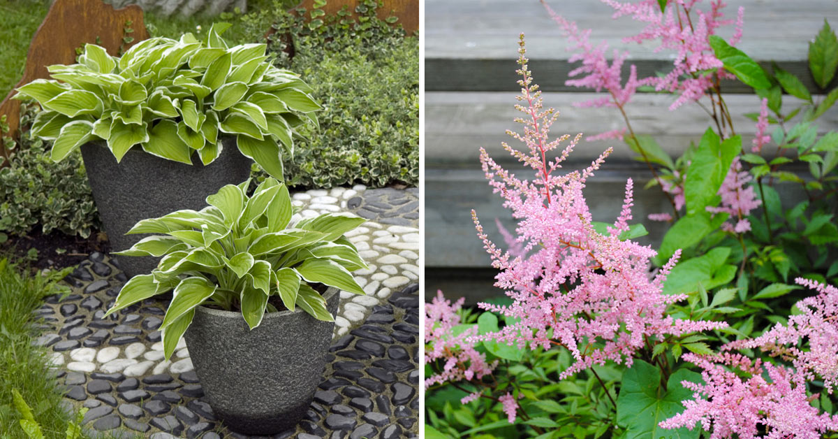
[[(323, 297), (338, 311), (339, 290)], [(297, 311), (266, 313), (250, 330), (240, 312), (199, 306), (186, 346), (215, 416), (233, 431), (270, 435), (297, 425), (322, 380), (334, 323)]]

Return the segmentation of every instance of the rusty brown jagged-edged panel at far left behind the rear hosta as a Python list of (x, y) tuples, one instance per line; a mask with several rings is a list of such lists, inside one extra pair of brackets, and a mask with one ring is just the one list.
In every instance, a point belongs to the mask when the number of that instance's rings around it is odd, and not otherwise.
[[(123, 44), (129, 21), (132, 23), (129, 27), (134, 30), (130, 36), (134, 40), (131, 44)], [(75, 49), (86, 43), (99, 44), (109, 54), (118, 55), (120, 47), (126, 50), (147, 38), (142, 9), (138, 6), (115, 10), (101, 0), (55, 0), (32, 37), (23, 78), (15, 88), (39, 78), (49, 78), (48, 65), (75, 64)], [(17, 137), (20, 119), (20, 102), (12, 99), (15, 93), (14, 90), (9, 92), (0, 103), (0, 115), (6, 115), (9, 134), (13, 138)], [(2, 153), (6, 154), (5, 151)]]

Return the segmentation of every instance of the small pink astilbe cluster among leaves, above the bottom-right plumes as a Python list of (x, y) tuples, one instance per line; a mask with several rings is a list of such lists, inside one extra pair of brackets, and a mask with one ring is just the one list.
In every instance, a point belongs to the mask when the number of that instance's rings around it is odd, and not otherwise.
[(707, 206), (708, 212), (727, 212), (731, 215), (733, 222), (722, 224), (723, 230), (732, 233), (745, 233), (751, 230), (751, 222), (748, 222), (746, 217), (753, 209), (763, 204), (763, 201), (760, 201), (754, 193), (753, 186), (747, 185), (751, 180), (753, 180), (751, 174), (742, 170), (739, 157), (734, 158), (718, 191), (718, 194), (722, 196), (722, 205)]

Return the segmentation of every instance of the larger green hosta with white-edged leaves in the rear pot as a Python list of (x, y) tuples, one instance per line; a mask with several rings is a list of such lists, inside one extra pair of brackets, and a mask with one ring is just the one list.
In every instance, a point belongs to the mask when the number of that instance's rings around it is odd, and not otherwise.
[(104, 140), (116, 161), (140, 145), (149, 154), (185, 164), (197, 151), (204, 165), (221, 153), (220, 138), (235, 136), (241, 154), (282, 178), (282, 144), (320, 109), (312, 89), (273, 66), (266, 44), (228, 47), (216, 24), (203, 40), (146, 39), (120, 58), (86, 44), (79, 64), (50, 65), (51, 80), (18, 88), (44, 112), (33, 133), (53, 140), (58, 161), (87, 142)]

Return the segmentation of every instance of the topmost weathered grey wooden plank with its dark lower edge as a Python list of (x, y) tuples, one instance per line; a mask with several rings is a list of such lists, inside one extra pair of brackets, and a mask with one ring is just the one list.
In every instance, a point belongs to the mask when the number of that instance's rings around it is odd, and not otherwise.
[[(630, 18), (611, 19), (612, 9), (601, 2), (553, 0), (550, 3), (566, 18), (576, 21), (580, 29), (593, 29), (593, 41), (605, 40), (613, 49), (629, 50), (628, 62), (638, 65), (642, 76), (668, 70), (670, 51), (654, 52), (654, 43), (638, 45), (621, 40), (637, 34), (641, 24)], [(833, 27), (838, 24), (838, 2), (732, 0), (728, 4), (727, 15), (732, 18), (736, 17), (739, 6), (745, 8), (744, 38), (738, 47), (763, 61), (763, 65), (778, 61), (815, 91), (805, 62), (808, 43), (824, 18)], [(425, 5), (427, 91), (515, 90), (514, 61), (521, 32), (527, 35), (527, 55), (533, 70), (542, 72), (542, 90), (572, 90), (564, 86), (567, 72), (573, 68), (567, 63), (570, 55), (567, 41), (538, 1), (428, 0)], [(732, 29), (724, 29), (722, 36), (731, 33)], [(623, 70), (628, 74), (628, 68)], [(727, 91), (750, 92), (750, 89), (731, 83)]]

